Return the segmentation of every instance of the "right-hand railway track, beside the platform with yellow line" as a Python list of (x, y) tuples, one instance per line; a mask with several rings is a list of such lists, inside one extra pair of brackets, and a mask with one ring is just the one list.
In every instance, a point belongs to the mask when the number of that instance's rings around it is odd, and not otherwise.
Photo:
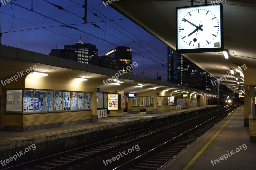
[(226, 114), (216, 115), (213, 118), (201, 123), (200, 125), (197, 125), (194, 128), (180, 134), (179, 136), (174, 137), (171, 140), (166, 141), (165, 143), (151, 149), (150, 151), (145, 152), (140, 156), (128, 161), (127, 163), (116, 167), (114, 170), (157, 170), (163, 168), (166, 162), (174, 158), (178, 153), (188, 147), (196, 139), (202, 136), (206, 131), (211, 129), (217, 122), (219, 122), (226, 115), (228, 115), (228, 110), (225, 111)]

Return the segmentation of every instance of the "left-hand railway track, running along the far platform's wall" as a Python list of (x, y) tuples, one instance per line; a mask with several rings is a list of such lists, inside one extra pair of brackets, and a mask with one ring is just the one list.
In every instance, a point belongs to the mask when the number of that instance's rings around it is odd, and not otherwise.
[[(225, 109), (226, 107), (222, 107), (217, 111), (222, 112)], [(216, 113), (217, 111), (212, 110), (198, 115), (188, 116), (176, 121), (111, 138), (95, 144), (86, 145), (66, 152), (11, 166), (6, 169), (65, 169), (76, 164), (80, 165), (81, 162), (83, 163), (84, 161), (87, 162), (88, 160), (95, 160), (95, 158), (99, 158), (106, 153), (113, 152), (118, 149), (120, 150), (120, 148), (124, 148), (124, 146), (134, 144), (138, 141), (153, 139), (157, 135), (161, 135), (170, 129), (195, 121), (199, 118), (205, 117), (206, 115)]]

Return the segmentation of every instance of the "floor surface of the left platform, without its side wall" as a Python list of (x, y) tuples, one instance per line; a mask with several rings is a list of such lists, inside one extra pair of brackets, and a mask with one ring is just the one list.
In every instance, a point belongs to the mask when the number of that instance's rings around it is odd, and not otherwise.
[(23, 141), (23, 140), (28, 140), (28, 139), (38, 138), (38, 137), (52, 136), (56, 134), (73, 132), (73, 131), (78, 131), (83, 129), (91, 129), (96, 127), (116, 124), (120, 122), (129, 122), (129, 121), (147, 119), (147, 118), (164, 116), (164, 115), (173, 115), (173, 114), (175, 115), (181, 112), (188, 112), (188, 111), (199, 110), (199, 109), (203, 109), (207, 107), (215, 107), (215, 106), (218, 106), (218, 105), (206, 105), (204, 107), (195, 107), (190, 109), (175, 109), (175, 110), (171, 110), (171, 112), (163, 112), (158, 114), (124, 113), (124, 116), (120, 116), (120, 117), (98, 118), (98, 122), (94, 122), (94, 123), (61, 126), (56, 128), (40, 129), (40, 130), (33, 130), (33, 131), (26, 131), (26, 132), (0, 131), (0, 151), (4, 150), (2, 146), (6, 146), (5, 144), (10, 142)]

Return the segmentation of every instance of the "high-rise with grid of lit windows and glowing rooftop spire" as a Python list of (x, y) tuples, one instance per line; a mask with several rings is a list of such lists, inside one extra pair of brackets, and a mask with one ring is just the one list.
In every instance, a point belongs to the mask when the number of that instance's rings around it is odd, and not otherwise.
[(84, 44), (81, 42), (81, 36), (79, 42), (74, 45), (65, 45), (64, 49), (72, 49), (78, 54), (78, 62), (89, 63), (89, 61), (98, 56), (98, 49), (93, 44)]

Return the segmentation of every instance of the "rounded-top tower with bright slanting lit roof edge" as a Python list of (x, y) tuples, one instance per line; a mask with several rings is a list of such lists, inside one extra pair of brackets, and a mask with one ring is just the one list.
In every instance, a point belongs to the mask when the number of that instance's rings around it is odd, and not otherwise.
[(127, 66), (129, 66), (132, 63), (132, 49), (125, 46), (119, 46), (115, 49), (110, 50), (105, 56), (108, 56), (110, 58), (113, 58), (115, 60), (120, 61), (120, 68), (119, 70), (123, 70), (127, 73), (132, 73), (132, 68), (130, 70), (127, 70)]

